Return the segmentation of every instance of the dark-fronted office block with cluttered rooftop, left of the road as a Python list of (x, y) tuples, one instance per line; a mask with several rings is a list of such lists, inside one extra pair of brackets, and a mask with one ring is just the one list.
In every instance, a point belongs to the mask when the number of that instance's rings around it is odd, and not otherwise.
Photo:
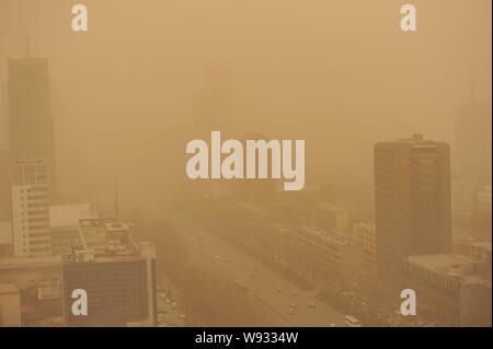
[[(156, 249), (135, 244), (130, 224), (80, 220), (81, 246), (61, 263), (64, 317), (69, 326), (154, 326)], [(88, 293), (88, 315), (71, 311), (76, 289)]]

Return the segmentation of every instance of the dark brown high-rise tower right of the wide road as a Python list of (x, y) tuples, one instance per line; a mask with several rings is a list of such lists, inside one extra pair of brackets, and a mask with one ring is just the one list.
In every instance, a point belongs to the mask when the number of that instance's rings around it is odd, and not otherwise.
[(377, 266), (395, 274), (412, 255), (450, 249), (450, 151), (445, 142), (412, 139), (375, 146)]

